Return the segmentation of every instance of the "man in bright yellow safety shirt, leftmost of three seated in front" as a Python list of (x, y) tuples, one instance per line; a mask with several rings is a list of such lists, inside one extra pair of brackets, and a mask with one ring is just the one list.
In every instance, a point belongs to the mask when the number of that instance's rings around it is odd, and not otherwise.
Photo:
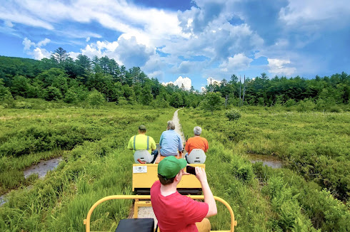
[(154, 139), (146, 135), (146, 126), (139, 125), (139, 135), (134, 135), (130, 138), (128, 149), (133, 150), (135, 153), (136, 150), (148, 150), (149, 154), (154, 156), (154, 159), (151, 163), (154, 163), (156, 157), (158, 156), (158, 151), (156, 150), (156, 142)]

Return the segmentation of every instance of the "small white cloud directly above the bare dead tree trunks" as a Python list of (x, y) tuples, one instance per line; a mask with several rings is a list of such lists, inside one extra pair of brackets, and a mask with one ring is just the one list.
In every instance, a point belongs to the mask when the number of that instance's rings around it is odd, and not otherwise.
[(229, 57), (228, 60), (219, 65), (219, 68), (221, 68), (221, 71), (234, 73), (249, 68), (251, 61), (253, 61), (253, 59), (244, 56), (243, 53), (239, 53), (234, 55), (234, 57)]

